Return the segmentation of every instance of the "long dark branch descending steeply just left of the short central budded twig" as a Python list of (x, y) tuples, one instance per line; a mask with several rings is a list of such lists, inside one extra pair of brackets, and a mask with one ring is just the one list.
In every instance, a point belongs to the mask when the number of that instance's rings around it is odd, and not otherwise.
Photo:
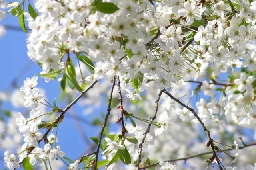
[(104, 124), (102, 126), (102, 129), (100, 131), (100, 138), (99, 138), (99, 143), (97, 146), (97, 150), (96, 150), (96, 157), (95, 157), (95, 162), (94, 165), (92, 167), (93, 170), (97, 170), (97, 162), (98, 162), (98, 156), (99, 156), (99, 152), (100, 152), (100, 143), (102, 140), (102, 136), (103, 136), (103, 131), (107, 125), (107, 121), (108, 121), (108, 116), (110, 115), (110, 111), (111, 111), (111, 101), (112, 101), (112, 95), (113, 95), (113, 90), (114, 90), (114, 86), (116, 85), (116, 77), (114, 76), (113, 78), (113, 83), (112, 83), (112, 87), (111, 87), (111, 91), (110, 91), (110, 95), (109, 95), (109, 99), (108, 99), (108, 109), (107, 109), (107, 113), (106, 113), (106, 117), (105, 117), (105, 121)]

